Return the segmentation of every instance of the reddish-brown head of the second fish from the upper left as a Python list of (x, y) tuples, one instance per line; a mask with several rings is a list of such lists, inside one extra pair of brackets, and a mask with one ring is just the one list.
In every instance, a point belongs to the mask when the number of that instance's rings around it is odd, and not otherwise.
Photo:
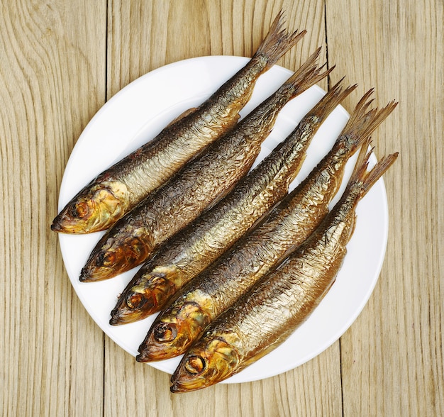
[(111, 228), (92, 250), (79, 279), (95, 282), (116, 277), (145, 262), (153, 250), (151, 235), (145, 228)]

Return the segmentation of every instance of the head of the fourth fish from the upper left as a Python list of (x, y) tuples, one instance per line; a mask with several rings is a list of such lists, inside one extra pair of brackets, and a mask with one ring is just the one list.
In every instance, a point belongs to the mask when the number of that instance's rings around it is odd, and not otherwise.
[(211, 313), (196, 301), (180, 302), (167, 308), (152, 323), (139, 347), (139, 362), (164, 360), (186, 352), (211, 321)]

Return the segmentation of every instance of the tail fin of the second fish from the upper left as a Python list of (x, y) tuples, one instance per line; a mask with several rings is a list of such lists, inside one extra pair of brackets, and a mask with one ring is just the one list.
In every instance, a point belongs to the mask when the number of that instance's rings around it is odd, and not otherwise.
[(318, 67), (318, 57), (320, 53), (321, 48), (318, 48), (315, 52), (313, 52), (313, 54), (309, 56), (309, 59), (301, 65), (299, 70), (297, 70), (292, 77), (289, 77), (289, 79), (282, 84), (281, 89), (289, 89), (292, 96), (296, 96), (330, 74), (333, 71), (334, 66), (325, 71), (323, 71), (323, 67), (326, 67), (326, 64)]

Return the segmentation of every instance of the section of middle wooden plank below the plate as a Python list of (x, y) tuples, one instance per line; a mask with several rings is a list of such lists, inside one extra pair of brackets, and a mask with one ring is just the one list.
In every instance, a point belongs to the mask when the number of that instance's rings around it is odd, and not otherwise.
[(170, 375), (106, 338), (105, 415), (122, 416), (341, 416), (339, 343), (301, 367), (243, 384), (218, 384), (170, 394)]

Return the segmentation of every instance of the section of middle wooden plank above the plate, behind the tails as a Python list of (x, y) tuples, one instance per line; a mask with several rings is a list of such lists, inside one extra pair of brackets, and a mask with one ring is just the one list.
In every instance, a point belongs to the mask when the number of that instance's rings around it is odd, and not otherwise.
[[(252, 56), (280, 9), (288, 28), (309, 32), (278, 62), (296, 70), (313, 50), (325, 45), (323, 1), (274, 1), (270, 7), (270, 2), (252, 0), (110, 0), (108, 99), (134, 79), (171, 62), (204, 55)], [(321, 56), (326, 59), (325, 52)]]

